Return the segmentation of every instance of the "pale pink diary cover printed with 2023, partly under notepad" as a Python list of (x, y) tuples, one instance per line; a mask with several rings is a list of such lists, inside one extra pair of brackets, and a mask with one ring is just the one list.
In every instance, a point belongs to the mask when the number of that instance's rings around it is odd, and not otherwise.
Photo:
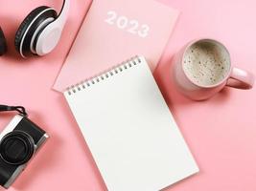
[(54, 89), (63, 92), (136, 54), (144, 55), (153, 70), (177, 15), (154, 0), (94, 0)]

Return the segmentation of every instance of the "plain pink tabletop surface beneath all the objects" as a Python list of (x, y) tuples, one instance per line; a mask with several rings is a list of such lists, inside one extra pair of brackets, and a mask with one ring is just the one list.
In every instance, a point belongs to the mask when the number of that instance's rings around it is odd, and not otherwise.
[[(212, 37), (228, 47), (235, 66), (256, 74), (256, 2), (161, 1), (181, 14), (155, 74), (200, 168), (198, 175), (168, 190), (255, 191), (256, 89), (226, 88), (208, 101), (194, 102), (176, 93), (166, 72), (181, 46), (194, 38)], [(63, 96), (51, 90), (89, 2), (72, 0), (66, 30), (54, 53), (27, 60), (14, 53), (15, 29), (36, 6), (46, 4), (59, 10), (61, 0), (1, 2), (0, 25), (7, 34), (10, 52), (0, 57), (0, 101), (25, 105), (31, 118), (51, 136), (10, 190), (105, 190)], [(1, 116), (0, 129), (11, 117)]]

